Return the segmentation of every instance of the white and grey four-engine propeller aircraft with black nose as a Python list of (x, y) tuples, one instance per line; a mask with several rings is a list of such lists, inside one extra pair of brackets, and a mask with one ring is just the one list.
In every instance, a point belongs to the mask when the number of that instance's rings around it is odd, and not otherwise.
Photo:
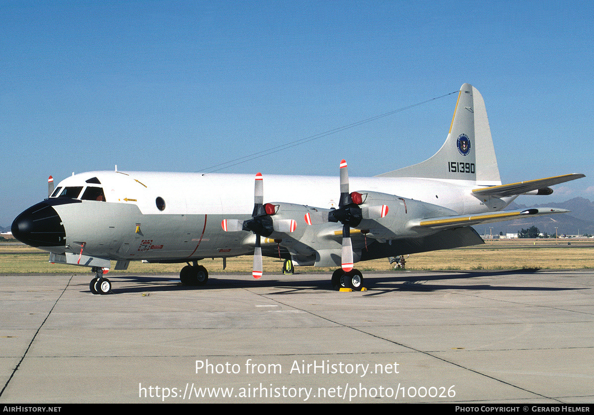
[[(565, 174), (501, 184), (481, 94), (460, 89), (445, 143), (434, 156), (375, 177), (94, 171), (72, 175), (12, 223), (12, 234), (49, 251), (50, 262), (87, 266), (93, 294), (111, 292), (105, 272), (130, 261), (187, 263), (180, 278), (204, 285), (198, 261), (253, 255), (295, 266), (334, 267), (335, 289), (361, 290), (354, 264), (484, 243), (472, 225), (568, 212), (501, 212), (520, 194), (584, 177)], [(351, 191), (355, 190), (355, 191)]]

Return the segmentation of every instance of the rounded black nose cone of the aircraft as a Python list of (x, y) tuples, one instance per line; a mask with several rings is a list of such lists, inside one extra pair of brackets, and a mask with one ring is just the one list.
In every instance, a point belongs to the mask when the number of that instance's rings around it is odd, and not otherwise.
[(62, 219), (47, 202), (31, 206), (12, 222), (12, 235), (24, 244), (40, 246), (64, 246), (66, 231)]

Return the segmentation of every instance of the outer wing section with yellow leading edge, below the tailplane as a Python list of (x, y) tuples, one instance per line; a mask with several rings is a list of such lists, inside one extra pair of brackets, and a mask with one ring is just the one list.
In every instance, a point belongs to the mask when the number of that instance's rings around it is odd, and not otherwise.
[(447, 229), (456, 227), (467, 227), (489, 222), (509, 221), (525, 216), (551, 215), (552, 213), (567, 213), (567, 209), (556, 208), (532, 208), (523, 210), (510, 210), (497, 213), (479, 213), (477, 215), (443, 216), (441, 218), (427, 218), (416, 221), (412, 227)]

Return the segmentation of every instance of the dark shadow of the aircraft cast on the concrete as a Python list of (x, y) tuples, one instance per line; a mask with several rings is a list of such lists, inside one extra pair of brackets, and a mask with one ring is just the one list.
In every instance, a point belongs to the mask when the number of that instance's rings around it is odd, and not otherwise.
[[(365, 287), (368, 289), (363, 295), (381, 295), (393, 291), (440, 291), (440, 290), (484, 290), (484, 291), (565, 291), (579, 290), (574, 287), (529, 287), (510, 285), (489, 285), (489, 284), (447, 284), (448, 280), (459, 280), (478, 278), (485, 276), (507, 276), (522, 275), (538, 272), (538, 268), (512, 269), (503, 271), (456, 271), (456, 272), (428, 272), (423, 275), (411, 274), (383, 274), (382, 276), (370, 276), (365, 278)], [(220, 290), (229, 288), (284, 288), (283, 291), (275, 291), (268, 295), (294, 294), (300, 291), (323, 290), (331, 291), (329, 279), (277, 279), (274, 275), (264, 276), (258, 281), (248, 279), (232, 279), (224, 275), (213, 275), (208, 279), (207, 285), (203, 287), (188, 287), (181, 285), (175, 275), (153, 276), (153, 275), (114, 275), (112, 281), (113, 294), (119, 293), (157, 293), (163, 291), (195, 291), (195, 290)], [(431, 284), (432, 281), (440, 281), (439, 284)]]

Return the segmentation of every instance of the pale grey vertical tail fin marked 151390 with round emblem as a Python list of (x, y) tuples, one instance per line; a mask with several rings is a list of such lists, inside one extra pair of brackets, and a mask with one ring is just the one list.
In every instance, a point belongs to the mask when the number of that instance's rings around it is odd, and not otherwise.
[(431, 158), (379, 176), (469, 180), (486, 186), (501, 184), (481, 93), (470, 84), (462, 85), (450, 133)]

